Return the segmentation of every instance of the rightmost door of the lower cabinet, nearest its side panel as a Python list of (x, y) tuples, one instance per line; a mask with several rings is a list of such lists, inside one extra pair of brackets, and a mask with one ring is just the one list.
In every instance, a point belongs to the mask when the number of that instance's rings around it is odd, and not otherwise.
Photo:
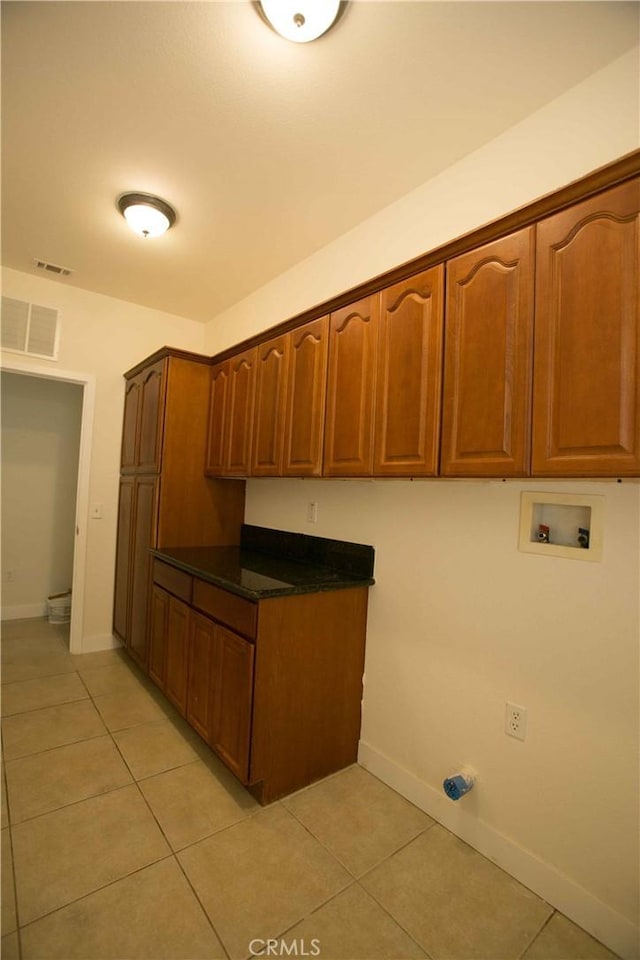
[(216, 628), (210, 743), (243, 783), (249, 779), (253, 654), (252, 643)]

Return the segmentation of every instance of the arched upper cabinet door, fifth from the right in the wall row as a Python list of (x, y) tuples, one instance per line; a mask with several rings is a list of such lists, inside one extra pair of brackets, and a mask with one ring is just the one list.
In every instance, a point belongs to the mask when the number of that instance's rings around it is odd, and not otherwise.
[(320, 317), (293, 330), (289, 341), (282, 473), (285, 477), (319, 477), (327, 395), (329, 317)]

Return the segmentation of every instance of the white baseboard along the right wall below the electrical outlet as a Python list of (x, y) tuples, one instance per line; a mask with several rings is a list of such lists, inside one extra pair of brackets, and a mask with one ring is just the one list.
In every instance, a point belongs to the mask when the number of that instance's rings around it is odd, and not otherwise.
[(395, 761), (360, 741), (358, 763), (492, 860), (624, 960), (640, 957), (640, 930), (570, 877), (465, 811)]

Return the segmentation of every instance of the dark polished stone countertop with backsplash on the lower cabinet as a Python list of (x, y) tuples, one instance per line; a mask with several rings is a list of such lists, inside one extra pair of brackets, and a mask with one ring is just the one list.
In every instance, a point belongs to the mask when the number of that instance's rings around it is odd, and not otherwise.
[(239, 547), (163, 547), (154, 557), (248, 600), (369, 587), (373, 547), (243, 525)]

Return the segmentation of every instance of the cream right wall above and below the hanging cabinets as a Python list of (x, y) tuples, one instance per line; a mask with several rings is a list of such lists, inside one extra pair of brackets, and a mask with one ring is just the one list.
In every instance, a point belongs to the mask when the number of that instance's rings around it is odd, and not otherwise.
[[(638, 49), (227, 310), (207, 352), (640, 146)], [(604, 497), (601, 563), (519, 553), (522, 490)], [(308, 500), (319, 520), (305, 522)], [(625, 957), (638, 952), (635, 482), (253, 480), (247, 521), (376, 548), (361, 762)], [(529, 711), (524, 743), (505, 701)], [(453, 804), (442, 779), (478, 772)]]

